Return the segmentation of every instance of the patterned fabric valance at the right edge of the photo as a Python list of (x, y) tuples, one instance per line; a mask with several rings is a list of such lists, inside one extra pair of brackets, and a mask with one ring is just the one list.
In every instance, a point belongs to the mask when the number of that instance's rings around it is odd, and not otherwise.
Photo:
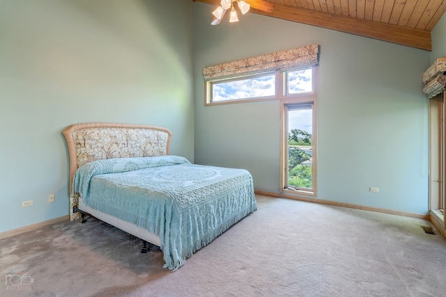
[(423, 93), (428, 98), (443, 93), (446, 85), (446, 57), (438, 58), (423, 74)]

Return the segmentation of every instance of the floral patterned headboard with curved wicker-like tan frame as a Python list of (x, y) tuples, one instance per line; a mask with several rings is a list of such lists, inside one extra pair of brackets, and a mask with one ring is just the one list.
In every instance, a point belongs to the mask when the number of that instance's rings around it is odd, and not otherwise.
[(148, 125), (115, 123), (77, 124), (63, 130), (70, 159), (70, 218), (77, 197), (72, 195), (72, 179), (79, 166), (85, 163), (137, 156), (162, 156), (169, 154), (171, 131)]

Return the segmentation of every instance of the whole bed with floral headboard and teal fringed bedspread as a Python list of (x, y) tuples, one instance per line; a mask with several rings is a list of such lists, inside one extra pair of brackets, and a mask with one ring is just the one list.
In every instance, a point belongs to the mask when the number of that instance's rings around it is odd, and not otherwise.
[(164, 268), (256, 211), (247, 170), (192, 164), (169, 154), (171, 131), (86, 123), (63, 130), (70, 163), (70, 219), (79, 211), (159, 246)]

